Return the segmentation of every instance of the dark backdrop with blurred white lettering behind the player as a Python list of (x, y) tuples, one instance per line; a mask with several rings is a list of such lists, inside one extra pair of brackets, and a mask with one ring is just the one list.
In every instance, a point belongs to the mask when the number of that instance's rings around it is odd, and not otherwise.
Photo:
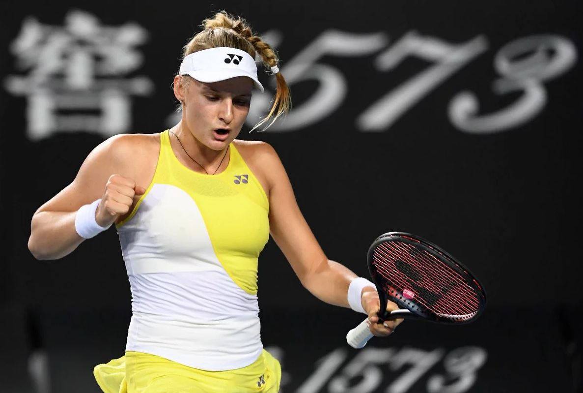
[(265, 133), (275, 79), (238, 138), (273, 145), (329, 259), (368, 276), (378, 235), (430, 239), (480, 278), (465, 326), (406, 322), (363, 350), (363, 315), (325, 304), (273, 241), (262, 340), (282, 392), (583, 391), (580, 1), (0, 2), (0, 392), (99, 392), (131, 294), (114, 228), (59, 260), (27, 249), (36, 209), (101, 141), (179, 119), (182, 46), (213, 12), (277, 48), (293, 110)]

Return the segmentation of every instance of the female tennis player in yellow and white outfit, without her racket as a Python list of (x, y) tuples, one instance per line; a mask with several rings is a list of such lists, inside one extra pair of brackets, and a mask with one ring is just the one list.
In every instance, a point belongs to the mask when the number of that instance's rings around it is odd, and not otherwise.
[(368, 314), (375, 336), (401, 322), (378, 324), (374, 284), (326, 258), (271, 145), (236, 140), (253, 89), (264, 91), (256, 54), (277, 79), (257, 126), (289, 110), (276, 53), (224, 11), (202, 27), (174, 77), (180, 122), (101, 143), (31, 222), (37, 259), (117, 228), (132, 319), (124, 356), (94, 368), (106, 393), (279, 391), (280, 364), (259, 335), (257, 261), (269, 234), (316, 297)]

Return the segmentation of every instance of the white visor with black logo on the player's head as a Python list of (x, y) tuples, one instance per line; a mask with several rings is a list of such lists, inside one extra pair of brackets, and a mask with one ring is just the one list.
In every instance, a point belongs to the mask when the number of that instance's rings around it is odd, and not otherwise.
[(248, 76), (262, 93), (263, 86), (257, 79), (257, 65), (247, 52), (218, 47), (189, 54), (180, 64), (180, 75), (190, 75), (199, 82), (218, 82), (235, 76)]

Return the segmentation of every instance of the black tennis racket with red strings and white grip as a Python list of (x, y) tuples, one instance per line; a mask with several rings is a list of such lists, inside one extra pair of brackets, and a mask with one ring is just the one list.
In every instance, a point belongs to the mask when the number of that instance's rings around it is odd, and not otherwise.
[[(486, 292), (468, 268), (415, 235), (381, 235), (368, 249), (367, 260), (381, 301), (380, 324), (397, 318), (467, 324), (486, 307)], [(388, 300), (399, 309), (387, 312)], [(348, 332), (350, 346), (361, 348), (373, 337), (367, 321)]]

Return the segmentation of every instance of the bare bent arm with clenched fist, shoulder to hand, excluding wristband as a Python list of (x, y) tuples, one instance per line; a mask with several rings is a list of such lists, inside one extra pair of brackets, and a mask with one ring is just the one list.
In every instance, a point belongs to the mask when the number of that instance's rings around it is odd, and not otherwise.
[[(97, 221), (103, 227), (118, 217), (104, 214), (104, 196), (111, 200), (111, 208), (119, 214), (129, 209), (128, 197), (131, 206), (133, 189), (136, 187), (131, 180), (135, 176), (134, 165), (129, 164), (135, 140), (131, 134), (115, 135), (98, 145), (87, 156), (73, 182), (38, 208), (31, 221), (28, 242), (34, 258), (62, 258), (85, 240), (75, 229), (76, 213), (81, 206), (101, 198), (98, 212), (102, 211), (102, 214)], [(112, 176), (114, 174), (117, 176)], [(130, 188), (131, 193), (128, 190)], [(142, 189), (139, 191), (143, 192)], [(125, 199), (122, 195), (124, 193), (127, 194)], [(116, 203), (114, 198), (125, 201), (125, 204)]]

